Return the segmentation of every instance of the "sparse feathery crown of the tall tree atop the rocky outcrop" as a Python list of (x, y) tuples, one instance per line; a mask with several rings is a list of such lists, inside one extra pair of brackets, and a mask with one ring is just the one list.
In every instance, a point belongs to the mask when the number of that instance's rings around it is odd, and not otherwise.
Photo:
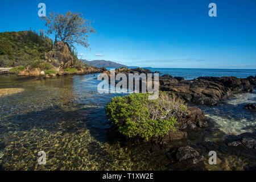
[(46, 17), (47, 34), (55, 34), (55, 40), (61, 40), (70, 47), (74, 44), (88, 47), (88, 37), (96, 31), (91, 26), (92, 21), (82, 18), (80, 13), (68, 11), (65, 15), (60, 13), (49, 13)]

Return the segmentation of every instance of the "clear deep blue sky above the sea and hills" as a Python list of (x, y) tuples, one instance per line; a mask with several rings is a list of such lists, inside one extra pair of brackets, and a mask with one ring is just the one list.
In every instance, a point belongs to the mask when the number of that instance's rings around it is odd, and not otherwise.
[[(44, 29), (38, 4), (94, 20), (83, 59), (156, 68), (256, 69), (255, 0), (1, 1), (0, 32)], [(210, 17), (209, 3), (217, 17)], [(53, 36), (51, 36), (53, 38)]]

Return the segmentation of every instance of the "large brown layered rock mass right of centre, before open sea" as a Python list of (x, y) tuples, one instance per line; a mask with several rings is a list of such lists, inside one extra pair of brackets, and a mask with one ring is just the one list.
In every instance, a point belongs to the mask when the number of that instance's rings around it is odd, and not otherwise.
[[(180, 80), (180, 78), (178, 78)], [(159, 77), (160, 90), (175, 93), (186, 102), (197, 105), (217, 105), (219, 101), (237, 92), (254, 92), (245, 78), (199, 77), (179, 81), (170, 75)]]

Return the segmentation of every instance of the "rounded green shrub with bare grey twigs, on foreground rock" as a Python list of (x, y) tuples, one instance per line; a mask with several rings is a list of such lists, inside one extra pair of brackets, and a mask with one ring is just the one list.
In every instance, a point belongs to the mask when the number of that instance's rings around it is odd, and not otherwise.
[(184, 114), (187, 107), (175, 95), (160, 92), (157, 100), (148, 100), (149, 93), (133, 93), (114, 97), (106, 106), (109, 121), (126, 137), (164, 136), (175, 130), (175, 116)]

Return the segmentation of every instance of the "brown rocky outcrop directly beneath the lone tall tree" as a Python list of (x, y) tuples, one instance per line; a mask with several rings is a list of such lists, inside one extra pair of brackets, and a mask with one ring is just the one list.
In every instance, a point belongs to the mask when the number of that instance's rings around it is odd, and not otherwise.
[(43, 59), (60, 69), (71, 68), (75, 64), (75, 59), (64, 42), (56, 42), (51, 51), (44, 53)]

